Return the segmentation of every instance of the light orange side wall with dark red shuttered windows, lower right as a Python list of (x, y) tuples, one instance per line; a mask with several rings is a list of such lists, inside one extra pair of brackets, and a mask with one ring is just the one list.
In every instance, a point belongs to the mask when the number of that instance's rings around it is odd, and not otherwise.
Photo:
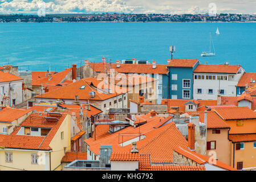
[(212, 129), (207, 130), (207, 142), (216, 141), (216, 150), (206, 150), (206, 155), (212, 156), (211, 151), (216, 152), (216, 159), (231, 165), (231, 142), (228, 139), (229, 129), (221, 129), (220, 134), (213, 134)]

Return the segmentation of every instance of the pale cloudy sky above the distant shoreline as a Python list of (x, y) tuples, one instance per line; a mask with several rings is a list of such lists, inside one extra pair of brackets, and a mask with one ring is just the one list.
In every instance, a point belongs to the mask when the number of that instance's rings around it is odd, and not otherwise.
[(0, 0), (0, 14), (256, 14), (255, 0)]

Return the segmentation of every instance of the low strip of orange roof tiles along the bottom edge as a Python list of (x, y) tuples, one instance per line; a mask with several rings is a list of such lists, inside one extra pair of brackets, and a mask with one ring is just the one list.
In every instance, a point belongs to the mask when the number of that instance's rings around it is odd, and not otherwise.
[(204, 166), (151, 166), (150, 168), (139, 168), (140, 171), (206, 171)]

